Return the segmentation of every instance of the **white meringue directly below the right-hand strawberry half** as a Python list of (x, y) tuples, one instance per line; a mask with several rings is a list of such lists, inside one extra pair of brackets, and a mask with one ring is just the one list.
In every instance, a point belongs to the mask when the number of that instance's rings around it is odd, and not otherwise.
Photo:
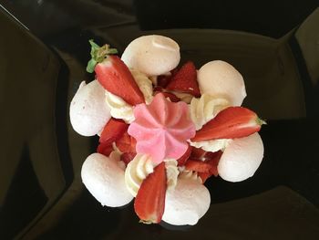
[(263, 158), (260, 135), (252, 135), (229, 142), (217, 166), (218, 174), (229, 182), (240, 182), (252, 177)]

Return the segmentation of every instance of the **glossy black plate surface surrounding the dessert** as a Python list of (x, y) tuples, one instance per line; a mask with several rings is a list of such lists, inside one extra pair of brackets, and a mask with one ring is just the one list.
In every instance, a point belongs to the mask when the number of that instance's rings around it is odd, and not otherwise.
[[(0, 3), (29, 28), (1, 11), (1, 239), (318, 239), (316, 1)], [(268, 122), (259, 170), (242, 183), (205, 183), (211, 208), (195, 226), (139, 224), (132, 203), (101, 207), (80, 180), (98, 142), (72, 130), (67, 110), (93, 78), (87, 40), (121, 52), (153, 33), (180, 44), (181, 62), (232, 63), (245, 79), (243, 105)]]

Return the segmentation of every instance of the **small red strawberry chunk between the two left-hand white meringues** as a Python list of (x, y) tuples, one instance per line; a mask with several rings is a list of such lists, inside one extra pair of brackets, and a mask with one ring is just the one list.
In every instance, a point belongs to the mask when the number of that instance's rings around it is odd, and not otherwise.
[(117, 141), (128, 128), (129, 125), (123, 120), (111, 118), (102, 130), (99, 142), (110, 145), (113, 141)]

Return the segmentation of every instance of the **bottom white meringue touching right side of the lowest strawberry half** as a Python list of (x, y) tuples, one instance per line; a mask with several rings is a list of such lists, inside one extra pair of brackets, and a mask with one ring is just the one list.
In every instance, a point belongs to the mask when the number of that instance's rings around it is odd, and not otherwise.
[(211, 204), (208, 189), (197, 180), (179, 178), (174, 191), (168, 191), (162, 220), (174, 225), (194, 225)]

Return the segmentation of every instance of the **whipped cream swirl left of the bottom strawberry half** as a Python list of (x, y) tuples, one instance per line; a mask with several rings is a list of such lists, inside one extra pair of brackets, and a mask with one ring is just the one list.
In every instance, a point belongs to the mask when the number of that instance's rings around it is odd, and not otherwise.
[(146, 154), (137, 154), (136, 157), (129, 162), (125, 170), (125, 183), (129, 193), (134, 197), (139, 191), (140, 184), (154, 171), (154, 163), (151, 157)]

